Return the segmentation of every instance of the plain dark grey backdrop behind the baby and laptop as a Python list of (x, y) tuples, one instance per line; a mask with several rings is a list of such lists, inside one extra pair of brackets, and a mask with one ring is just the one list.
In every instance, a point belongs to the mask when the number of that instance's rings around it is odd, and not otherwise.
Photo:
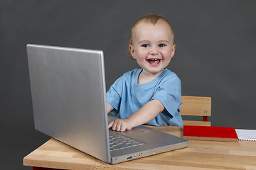
[(107, 89), (137, 63), (124, 57), (132, 23), (159, 13), (174, 26), (183, 96), (212, 97), (213, 126), (255, 129), (256, 1), (1, 0), (0, 169), (49, 139), (33, 128), (26, 44), (105, 52)]

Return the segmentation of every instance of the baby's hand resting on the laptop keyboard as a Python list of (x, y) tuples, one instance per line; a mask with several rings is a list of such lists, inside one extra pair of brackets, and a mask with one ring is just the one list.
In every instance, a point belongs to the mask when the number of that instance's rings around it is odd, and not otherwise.
[(124, 132), (125, 130), (132, 129), (132, 123), (128, 119), (116, 119), (108, 125), (108, 128), (112, 128), (112, 130)]

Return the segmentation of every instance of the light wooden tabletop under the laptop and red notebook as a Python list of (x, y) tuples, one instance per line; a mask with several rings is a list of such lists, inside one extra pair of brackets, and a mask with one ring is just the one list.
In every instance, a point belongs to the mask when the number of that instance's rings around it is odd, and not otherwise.
[[(151, 127), (182, 137), (182, 127)], [(190, 146), (110, 165), (54, 139), (23, 159), (33, 169), (256, 169), (256, 142), (191, 140)], [(48, 169), (47, 169), (48, 170)]]

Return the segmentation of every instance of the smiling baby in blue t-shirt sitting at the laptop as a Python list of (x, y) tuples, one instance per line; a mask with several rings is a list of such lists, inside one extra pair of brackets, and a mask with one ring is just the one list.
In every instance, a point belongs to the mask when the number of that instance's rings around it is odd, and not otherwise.
[(142, 69), (124, 73), (107, 91), (107, 113), (120, 117), (109, 128), (124, 132), (145, 123), (182, 126), (181, 81), (166, 68), (176, 50), (169, 21), (154, 14), (139, 18), (129, 50)]

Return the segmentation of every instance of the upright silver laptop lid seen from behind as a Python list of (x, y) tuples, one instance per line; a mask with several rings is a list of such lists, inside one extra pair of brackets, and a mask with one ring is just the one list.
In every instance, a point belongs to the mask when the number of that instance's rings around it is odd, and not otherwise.
[(47, 45), (27, 51), (36, 130), (110, 162), (103, 52)]

